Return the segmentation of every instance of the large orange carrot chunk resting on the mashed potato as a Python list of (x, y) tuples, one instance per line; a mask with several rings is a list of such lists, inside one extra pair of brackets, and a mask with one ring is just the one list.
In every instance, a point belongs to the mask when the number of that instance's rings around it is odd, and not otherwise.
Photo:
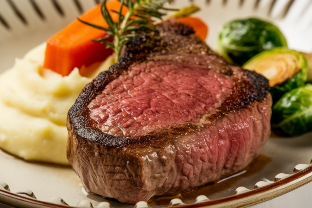
[[(113, 0), (106, 3), (113, 21), (118, 21), (118, 14), (110, 10), (119, 10), (120, 2)], [(95, 25), (107, 28), (108, 25), (101, 15), (100, 4), (83, 14), (80, 19)], [(123, 9), (123, 15), (127, 8)], [(112, 49), (106, 49), (106, 45), (91, 42), (105, 36), (103, 30), (85, 25), (78, 20), (73, 21), (67, 27), (47, 40), (44, 68), (51, 69), (63, 76), (82, 65), (88, 66), (96, 61), (105, 60), (113, 53)], [(112, 39), (110, 40), (112, 41)]]

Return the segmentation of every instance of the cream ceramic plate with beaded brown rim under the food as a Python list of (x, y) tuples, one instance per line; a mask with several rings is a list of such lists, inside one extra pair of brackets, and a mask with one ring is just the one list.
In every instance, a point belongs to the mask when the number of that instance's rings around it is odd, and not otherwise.
[[(1, 72), (12, 67), (15, 57), (21, 58), (95, 3), (95, 0), (1, 1)], [(212, 48), (225, 22), (260, 17), (280, 27), (290, 48), (312, 51), (312, 1), (175, 0), (172, 7), (191, 3), (202, 8), (196, 15), (209, 25), (207, 43)], [(261, 155), (242, 172), (176, 196), (152, 198), (148, 204), (141, 202), (136, 207), (245, 207), (280, 196), (312, 180), (312, 167), (301, 164), (310, 163), (311, 138), (312, 133), (296, 138), (271, 135)], [(0, 202), (15, 207), (133, 207), (88, 194), (71, 167), (26, 162), (2, 151), (0, 181)]]

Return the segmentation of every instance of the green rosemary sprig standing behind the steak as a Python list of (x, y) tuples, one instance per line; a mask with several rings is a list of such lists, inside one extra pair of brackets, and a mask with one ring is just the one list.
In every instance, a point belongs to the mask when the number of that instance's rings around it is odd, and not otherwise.
[[(170, 0), (118, 0), (120, 2), (119, 11), (111, 10), (111, 12), (115, 12), (119, 15), (118, 21), (114, 22), (105, 6), (106, 1), (107, 0), (104, 0), (102, 2), (101, 12), (108, 24), (108, 28), (82, 21), (79, 18), (78, 20), (91, 27), (105, 31), (107, 34), (105, 37), (92, 41), (100, 42), (105, 44), (106, 48), (113, 49), (115, 52), (115, 62), (118, 61), (124, 44), (131, 37), (135, 36), (135, 31), (141, 28), (148, 28), (152, 31), (155, 30), (155, 28), (151, 26), (153, 22), (151, 18), (156, 17), (162, 19), (166, 13), (162, 13), (160, 10), (175, 10), (163, 7), (164, 3), (170, 3)], [(122, 15), (123, 7), (128, 8), (128, 12), (124, 16)], [(107, 39), (111, 37), (113, 38), (113, 43), (107, 41)]]

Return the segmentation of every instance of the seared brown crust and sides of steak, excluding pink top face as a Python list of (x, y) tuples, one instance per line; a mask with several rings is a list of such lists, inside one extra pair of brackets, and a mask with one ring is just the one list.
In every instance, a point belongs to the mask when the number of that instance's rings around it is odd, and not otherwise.
[[(88, 84), (68, 112), (67, 157), (89, 192), (136, 203), (201, 186), (246, 167), (270, 133), (271, 95), (266, 78), (227, 63), (173, 19), (126, 44), (119, 62)], [(217, 109), (129, 137), (99, 128), (90, 103), (121, 75), (150, 63), (199, 65), (231, 80)], [(127, 135), (127, 134), (126, 134)]]

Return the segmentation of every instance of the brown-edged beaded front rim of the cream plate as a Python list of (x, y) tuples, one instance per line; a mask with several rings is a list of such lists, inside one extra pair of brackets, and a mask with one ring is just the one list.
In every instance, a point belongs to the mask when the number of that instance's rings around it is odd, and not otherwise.
[[(278, 174), (279, 175), (279, 174)], [(276, 177), (278, 176), (276, 175)], [(294, 168), (294, 174), (290, 174), (285, 178), (276, 179), (272, 183), (267, 183), (264, 186), (256, 187), (254, 189), (247, 189), (245, 187), (238, 187), (236, 188), (235, 194), (231, 196), (227, 196), (220, 199), (215, 200), (208, 200), (198, 203), (191, 203), (191, 204), (180, 204), (176, 207), (179, 208), (197, 208), (197, 207), (208, 207), (209, 208), (224, 208), (224, 207), (231, 207), (231, 208), (239, 208), (239, 207), (247, 207), (253, 206), (278, 196), (284, 195), (290, 191), (293, 191), (305, 184), (308, 184), (312, 181), (312, 164), (305, 165), (299, 164)], [(21, 196), (17, 193), (12, 193), (9, 191), (8, 185), (7, 188), (3, 187), (3, 185), (7, 185), (6, 183), (2, 182), (2, 186), (0, 187), (0, 201), (4, 205), (13, 206), (13, 207), (38, 207), (38, 208), (68, 208), (68, 207), (76, 207), (76, 206), (67, 206), (67, 205), (60, 205), (55, 204), (52, 202), (47, 201), (40, 201), (36, 198), (32, 198), (31, 196)], [(27, 197), (26, 197), (27, 196)], [(61, 198), (60, 198), (61, 199)], [(62, 199), (61, 199), (62, 200)], [(173, 199), (174, 200), (174, 199)], [(87, 201), (87, 200), (83, 200)], [(139, 203), (139, 202), (138, 202)], [(134, 208), (150, 208), (148, 202), (146, 202), (147, 206), (137, 206), (134, 205)], [(90, 202), (90, 207), (92, 203)], [(172, 205), (171, 205), (172, 206)], [(98, 205), (95, 207), (99, 207)], [(102, 206), (100, 206), (102, 207)], [(170, 207), (165, 206), (165, 207)]]

